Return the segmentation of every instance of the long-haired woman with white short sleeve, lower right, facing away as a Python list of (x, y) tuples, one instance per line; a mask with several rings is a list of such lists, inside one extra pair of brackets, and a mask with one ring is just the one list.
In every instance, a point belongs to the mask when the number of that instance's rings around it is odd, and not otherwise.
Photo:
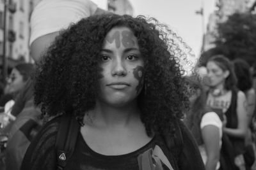
[(202, 81), (197, 76), (186, 78), (189, 88), (190, 109), (184, 122), (191, 130), (202, 159), (205, 170), (220, 168), (220, 149), (222, 122), (214, 111), (206, 107), (206, 93)]

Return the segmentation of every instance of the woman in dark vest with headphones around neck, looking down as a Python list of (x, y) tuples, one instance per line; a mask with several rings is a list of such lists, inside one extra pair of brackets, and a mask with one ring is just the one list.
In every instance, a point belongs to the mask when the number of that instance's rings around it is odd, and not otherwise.
[(246, 97), (241, 90), (236, 88), (237, 79), (234, 67), (227, 57), (213, 56), (207, 61), (206, 67), (210, 87), (207, 105), (214, 110), (221, 111), (221, 115), (227, 117), (223, 133), (228, 135), (235, 156), (241, 156), (244, 152), (244, 138), (248, 131)]

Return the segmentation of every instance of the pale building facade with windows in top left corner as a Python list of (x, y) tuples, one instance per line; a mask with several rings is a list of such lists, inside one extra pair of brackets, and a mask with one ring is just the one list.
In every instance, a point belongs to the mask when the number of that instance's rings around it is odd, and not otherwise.
[[(39, 0), (4, 0), (0, 3), (0, 56), (7, 61), (31, 62), (29, 57), (29, 17)], [(5, 14), (4, 14), (5, 13)], [(5, 19), (4, 19), (5, 15)], [(4, 53), (4, 27), (5, 53)], [(1, 60), (0, 59), (0, 60)]]

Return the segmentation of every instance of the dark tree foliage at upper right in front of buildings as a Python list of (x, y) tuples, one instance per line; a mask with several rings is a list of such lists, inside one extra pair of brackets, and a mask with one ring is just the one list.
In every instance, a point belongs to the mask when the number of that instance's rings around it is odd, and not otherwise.
[(242, 58), (251, 66), (256, 62), (256, 15), (234, 13), (218, 24), (216, 48), (230, 60)]

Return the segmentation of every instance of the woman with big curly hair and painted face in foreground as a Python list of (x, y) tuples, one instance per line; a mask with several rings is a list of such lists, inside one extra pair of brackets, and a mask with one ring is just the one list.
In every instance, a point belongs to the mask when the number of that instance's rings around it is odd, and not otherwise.
[[(56, 133), (68, 114), (81, 127), (65, 169), (204, 169), (180, 122), (189, 102), (177, 62), (183, 53), (166, 28), (154, 18), (109, 14), (62, 32), (35, 81), (35, 103), (56, 118), (31, 143), (21, 169), (56, 169)], [(179, 127), (184, 143), (174, 157), (163, 136), (174, 138)]]

